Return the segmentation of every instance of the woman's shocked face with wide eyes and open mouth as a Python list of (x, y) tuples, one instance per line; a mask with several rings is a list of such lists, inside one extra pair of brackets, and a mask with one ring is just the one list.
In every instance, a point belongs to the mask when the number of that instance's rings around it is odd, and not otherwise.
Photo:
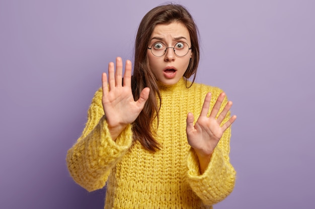
[[(187, 47), (191, 48), (187, 28), (182, 23), (176, 21), (170, 24), (156, 25), (151, 34), (148, 47), (152, 48), (153, 53), (155, 52), (155, 54), (160, 55), (159, 53), (163, 54), (164, 51), (163, 49), (159, 50), (163, 48), (163, 45), (171, 48), (168, 48), (166, 53), (161, 57), (154, 56), (151, 50), (148, 49), (149, 65), (158, 81), (165, 85), (173, 85), (183, 77), (192, 57), (191, 50), (187, 49)], [(183, 53), (183, 51), (181, 52), (181, 48), (185, 52), (187, 49), (188, 53), (183, 57), (179, 57), (174, 53), (173, 47), (175, 47), (175, 51), (180, 55)]]

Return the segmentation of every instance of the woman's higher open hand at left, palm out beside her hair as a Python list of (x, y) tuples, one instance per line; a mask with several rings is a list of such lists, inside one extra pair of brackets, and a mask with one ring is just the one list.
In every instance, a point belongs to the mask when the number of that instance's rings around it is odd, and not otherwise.
[(102, 104), (112, 139), (116, 140), (123, 129), (135, 121), (140, 114), (149, 96), (150, 89), (144, 88), (139, 99), (134, 101), (131, 91), (131, 61), (126, 61), (124, 79), (122, 79), (123, 65), (120, 57), (116, 58), (116, 72), (114, 68), (114, 63), (110, 62), (108, 65), (108, 82), (107, 74), (103, 73), (102, 75)]

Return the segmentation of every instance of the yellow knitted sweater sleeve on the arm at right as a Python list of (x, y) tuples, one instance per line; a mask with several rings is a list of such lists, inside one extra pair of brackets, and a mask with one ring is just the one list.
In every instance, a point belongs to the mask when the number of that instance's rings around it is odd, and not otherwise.
[[(226, 103), (227, 98), (225, 97), (222, 107)], [(213, 105), (211, 106), (213, 107)], [(220, 111), (222, 111), (222, 107)], [(228, 112), (222, 124), (229, 118), (230, 112)], [(188, 182), (192, 190), (206, 205), (213, 205), (223, 200), (234, 188), (236, 172), (229, 162), (230, 133), (231, 129), (229, 127), (215, 147), (208, 167), (203, 174), (200, 174), (198, 157), (193, 148), (188, 153)]]

